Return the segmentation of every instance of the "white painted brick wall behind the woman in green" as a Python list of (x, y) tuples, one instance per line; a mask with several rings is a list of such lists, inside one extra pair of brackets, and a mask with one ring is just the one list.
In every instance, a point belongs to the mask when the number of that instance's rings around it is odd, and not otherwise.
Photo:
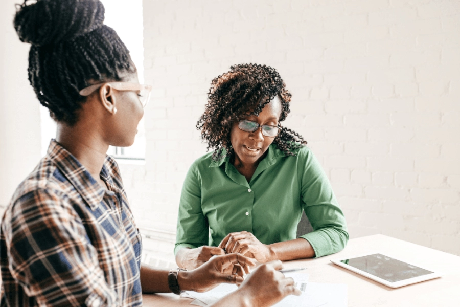
[(147, 157), (125, 176), (138, 223), (175, 230), (210, 82), (257, 62), (284, 78), (286, 126), (325, 168), (352, 238), (460, 255), (459, 20), (458, 0), (144, 1)]

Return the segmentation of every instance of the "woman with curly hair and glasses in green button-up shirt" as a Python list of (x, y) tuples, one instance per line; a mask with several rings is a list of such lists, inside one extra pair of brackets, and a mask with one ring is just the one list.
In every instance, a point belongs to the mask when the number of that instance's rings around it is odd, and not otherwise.
[[(233, 252), (267, 262), (345, 247), (347, 226), (326, 174), (303, 137), (281, 125), (290, 101), (266, 65), (235, 65), (212, 81), (197, 128), (213, 152), (192, 164), (182, 187), (179, 266)], [(302, 210), (314, 231), (297, 238)]]

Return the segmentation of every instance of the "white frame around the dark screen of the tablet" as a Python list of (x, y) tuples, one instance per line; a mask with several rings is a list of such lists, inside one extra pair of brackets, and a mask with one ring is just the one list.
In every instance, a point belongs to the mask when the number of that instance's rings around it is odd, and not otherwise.
[[(418, 277), (412, 277), (412, 278), (408, 278), (408, 279), (404, 279), (404, 280), (399, 280), (399, 281), (395, 281), (395, 282), (390, 282), (390, 281), (387, 281), (385, 279), (382, 279), (380, 277), (377, 277), (375, 275), (372, 275), (370, 273), (367, 273), (367, 272), (364, 272), (360, 269), (357, 269), (355, 267), (352, 267), (352, 266), (349, 266), (347, 264), (344, 264), (343, 260), (347, 260), (347, 259), (352, 259), (352, 258), (358, 258), (358, 257), (364, 257), (364, 256), (370, 256), (370, 255), (374, 255), (374, 254), (382, 254), (386, 257), (390, 257), (390, 258), (393, 258), (395, 260), (399, 260), (401, 262), (405, 262), (406, 264), (408, 265), (411, 265), (411, 266), (416, 266), (416, 267), (419, 267), (421, 269), (424, 269), (424, 270), (427, 270), (427, 271), (430, 271), (430, 272), (433, 272), (431, 274), (426, 274), (426, 275), (422, 275), (422, 276), (418, 276)], [(441, 272), (437, 272), (436, 270), (431, 270), (431, 269), (427, 269), (426, 267), (423, 267), (423, 266), (419, 266), (413, 262), (409, 262), (409, 261), (406, 261), (406, 260), (403, 260), (399, 257), (394, 257), (392, 255), (389, 255), (387, 253), (382, 253), (382, 252), (373, 252), (373, 253), (366, 253), (366, 254), (360, 254), (360, 255), (353, 255), (353, 256), (350, 256), (350, 257), (346, 257), (346, 258), (341, 258), (341, 259), (331, 259), (331, 262), (339, 267), (342, 267), (344, 269), (347, 269), (347, 270), (350, 270), (352, 272), (355, 272), (359, 275), (362, 275), (364, 277), (367, 277), (369, 279), (372, 279), (374, 281), (377, 281), (379, 283), (382, 283), (384, 284), (385, 286), (389, 287), (389, 288), (399, 288), (399, 287), (403, 287), (403, 286), (407, 286), (408, 284), (412, 284), (412, 283), (417, 283), (417, 282), (421, 282), (421, 281), (425, 281), (425, 280), (429, 280), (429, 279), (434, 279), (434, 278), (438, 278), (438, 277), (441, 277), (442, 275), (444, 275), (443, 273)]]

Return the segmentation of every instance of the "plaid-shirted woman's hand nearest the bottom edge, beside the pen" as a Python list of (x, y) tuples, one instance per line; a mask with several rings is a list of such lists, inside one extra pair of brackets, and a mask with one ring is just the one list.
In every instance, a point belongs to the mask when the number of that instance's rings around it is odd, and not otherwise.
[(237, 290), (245, 305), (254, 307), (271, 306), (284, 297), (301, 291), (294, 287), (294, 279), (278, 272), (283, 265), (280, 260), (263, 264), (254, 270)]

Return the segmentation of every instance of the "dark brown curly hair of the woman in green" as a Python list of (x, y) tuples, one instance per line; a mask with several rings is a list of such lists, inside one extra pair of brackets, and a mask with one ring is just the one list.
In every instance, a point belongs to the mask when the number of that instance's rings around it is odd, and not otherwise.
[[(201, 130), (201, 139), (208, 143), (207, 149), (214, 150), (214, 161), (233, 155), (230, 133), (241, 116), (258, 116), (275, 96), (280, 98), (282, 106), (279, 121), (284, 121), (290, 112), (292, 95), (276, 69), (252, 63), (234, 65), (230, 69), (213, 79), (208, 104), (196, 125)], [(287, 156), (295, 156), (307, 142), (295, 131), (281, 128), (273, 142)]]

